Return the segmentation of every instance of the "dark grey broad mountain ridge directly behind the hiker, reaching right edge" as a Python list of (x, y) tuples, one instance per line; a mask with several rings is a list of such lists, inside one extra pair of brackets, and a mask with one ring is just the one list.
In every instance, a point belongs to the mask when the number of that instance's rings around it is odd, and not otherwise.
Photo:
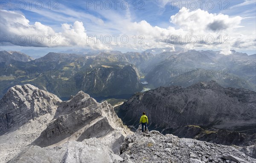
[(187, 125), (255, 133), (255, 99), (256, 92), (247, 89), (200, 82), (187, 88), (160, 87), (138, 93), (123, 103), (117, 114), (128, 126), (137, 127), (146, 112), (149, 129), (165, 133)]

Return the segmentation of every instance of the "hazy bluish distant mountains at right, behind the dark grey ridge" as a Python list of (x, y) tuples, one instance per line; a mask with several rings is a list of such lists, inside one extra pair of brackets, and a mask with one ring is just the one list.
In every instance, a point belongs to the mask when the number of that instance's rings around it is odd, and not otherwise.
[(216, 80), (221, 86), (256, 90), (256, 57), (233, 51), (189, 50), (171, 55), (156, 64), (145, 76), (148, 83), (159, 86), (187, 87), (197, 82)]

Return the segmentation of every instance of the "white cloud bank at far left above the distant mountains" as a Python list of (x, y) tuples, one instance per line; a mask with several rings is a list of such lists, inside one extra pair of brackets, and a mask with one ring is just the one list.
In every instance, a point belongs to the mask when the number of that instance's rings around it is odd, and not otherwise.
[[(18, 46), (56, 47), (88, 46), (93, 49), (110, 49), (102, 43), (94, 42), (94, 37), (87, 37), (82, 22), (61, 25), (62, 31), (56, 32), (40, 22), (30, 25), (29, 20), (20, 13), (0, 10), (1, 43)], [(90, 41), (88, 41), (90, 40)]]

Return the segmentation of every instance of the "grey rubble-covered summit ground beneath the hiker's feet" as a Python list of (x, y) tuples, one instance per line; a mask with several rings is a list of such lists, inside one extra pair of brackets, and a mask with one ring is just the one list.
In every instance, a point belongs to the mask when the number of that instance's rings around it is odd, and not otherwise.
[(207, 143), (172, 134), (150, 131), (150, 137), (137, 131), (125, 138), (120, 153), (125, 163), (254, 163), (253, 159), (231, 146)]

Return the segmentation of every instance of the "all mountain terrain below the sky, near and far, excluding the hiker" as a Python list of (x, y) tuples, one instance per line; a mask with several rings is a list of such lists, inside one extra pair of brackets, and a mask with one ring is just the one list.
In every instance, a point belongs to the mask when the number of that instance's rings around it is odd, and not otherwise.
[[(59, 162), (175, 162), (183, 157), (232, 163), (256, 157), (256, 54), (71, 49), (33, 59), (0, 51), (0, 62), (5, 162), (53, 162), (55, 156)], [(137, 130), (142, 112), (149, 118), (149, 134)], [(142, 135), (151, 138), (138, 143)], [(22, 143), (10, 145), (13, 137)], [(175, 146), (166, 144), (170, 137)], [(92, 138), (111, 141), (102, 145)], [(192, 141), (189, 149), (177, 143), (186, 140)], [(201, 146), (201, 141), (208, 143)], [(148, 158), (135, 152), (140, 145), (151, 150)], [(212, 147), (229, 152), (204, 152)], [(86, 154), (96, 149), (104, 157)], [(44, 154), (35, 157), (38, 153)]]

